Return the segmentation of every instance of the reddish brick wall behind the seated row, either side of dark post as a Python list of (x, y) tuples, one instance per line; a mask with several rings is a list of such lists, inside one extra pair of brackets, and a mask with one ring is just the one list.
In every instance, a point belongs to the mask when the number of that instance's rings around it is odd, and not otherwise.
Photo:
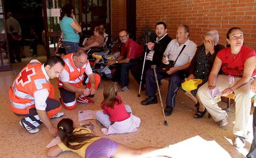
[[(127, 0), (128, 1), (128, 0)], [(118, 2), (119, 11), (115, 6)], [(125, 4), (113, 1), (112, 25), (125, 26)], [(155, 23), (164, 21), (168, 25), (168, 33), (176, 38), (176, 28), (184, 23), (190, 27), (190, 39), (202, 44), (202, 36), (209, 30), (216, 29), (220, 33), (220, 43), (226, 44), (226, 32), (231, 27), (244, 29), (244, 42), (256, 49), (256, 0), (220, 1), (220, 0), (137, 0), (137, 36), (148, 25), (155, 29)], [(114, 28), (113, 28), (114, 29)], [(114, 32), (114, 30), (113, 30)]]

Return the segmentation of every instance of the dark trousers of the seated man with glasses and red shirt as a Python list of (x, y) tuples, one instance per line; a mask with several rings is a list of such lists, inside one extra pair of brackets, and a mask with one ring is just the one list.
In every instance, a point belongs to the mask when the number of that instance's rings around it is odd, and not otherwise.
[(137, 65), (140, 60), (130, 60), (129, 63), (121, 64), (121, 86), (128, 86), (129, 85), (129, 70)]

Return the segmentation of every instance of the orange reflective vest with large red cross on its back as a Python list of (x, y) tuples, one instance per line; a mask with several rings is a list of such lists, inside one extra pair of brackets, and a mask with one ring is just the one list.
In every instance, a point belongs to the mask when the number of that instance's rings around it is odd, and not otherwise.
[(50, 91), (51, 84), (41, 69), (40, 62), (27, 64), (17, 75), (9, 89), (11, 110), (15, 114), (29, 114), (29, 109), (35, 107), (34, 93), (40, 89)]

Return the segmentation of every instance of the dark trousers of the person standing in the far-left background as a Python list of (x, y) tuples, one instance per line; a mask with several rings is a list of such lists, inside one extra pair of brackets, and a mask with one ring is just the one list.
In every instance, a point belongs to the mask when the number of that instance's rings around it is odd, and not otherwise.
[[(12, 63), (15, 62), (15, 59), (18, 62), (21, 62), (21, 58), (20, 58), (20, 41), (19, 40), (15, 40), (12, 38), (11, 34), (7, 34), (7, 38), (8, 38), (8, 42), (9, 42), (9, 51), (10, 51), (10, 60)], [(15, 57), (14, 57), (15, 54)]]

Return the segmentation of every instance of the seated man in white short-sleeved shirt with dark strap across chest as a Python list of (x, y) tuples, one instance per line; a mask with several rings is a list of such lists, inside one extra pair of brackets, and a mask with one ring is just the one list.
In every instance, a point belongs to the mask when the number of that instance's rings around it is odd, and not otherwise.
[[(184, 77), (184, 72), (182, 70), (186, 70), (189, 67), (196, 50), (197, 44), (189, 40), (189, 27), (183, 24), (179, 25), (176, 32), (176, 39), (173, 39), (168, 44), (163, 54), (163, 56), (168, 56), (169, 60), (174, 61), (177, 59), (176, 64), (165, 74), (157, 72), (158, 80), (161, 80), (164, 77), (169, 77), (168, 94), (164, 110), (164, 114), (167, 116), (173, 113), (177, 90), (179, 89), (181, 79)], [(180, 52), (181, 55), (179, 56)], [(164, 64), (167, 62), (164, 57), (162, 62)], [(140, 104), (146, 106), (157, 103), (156, 82), (152, 69), (149, 69), (146, 72), (146, 94), (148, 99), (145, 99)]]

